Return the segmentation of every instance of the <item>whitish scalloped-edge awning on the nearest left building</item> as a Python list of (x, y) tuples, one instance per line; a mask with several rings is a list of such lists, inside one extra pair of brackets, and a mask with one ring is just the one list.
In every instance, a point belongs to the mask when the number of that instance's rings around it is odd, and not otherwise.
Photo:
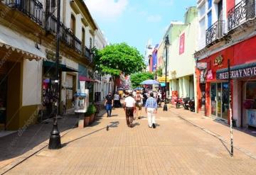
[(46, 59), (46, 55), (38, 50), (35, 45), (31, 45), (28, 40), (18, 35), (8, 35), (4, 30), (0, 30), (0, 47), (22, 53), (28, 60)]

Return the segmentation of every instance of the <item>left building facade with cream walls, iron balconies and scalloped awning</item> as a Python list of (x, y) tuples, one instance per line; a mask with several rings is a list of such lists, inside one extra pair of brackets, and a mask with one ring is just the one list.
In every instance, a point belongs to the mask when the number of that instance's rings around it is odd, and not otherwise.
[[(52, 115), (56, 5), (50, 0), (0, 2), (1, 130), (18, 130)], [(73, 107), (79, 74), (86, 77), (92, 69), (95, 30), (83, 1), (60, 1), (60, 113)]]

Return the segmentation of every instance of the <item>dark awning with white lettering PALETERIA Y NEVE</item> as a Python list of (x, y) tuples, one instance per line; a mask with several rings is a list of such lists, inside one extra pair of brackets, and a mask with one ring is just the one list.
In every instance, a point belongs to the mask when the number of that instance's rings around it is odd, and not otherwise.
[[(256, 62), (230, 67), (231, 79), (253, 76), (256, 76)], [(217, 70), (216, 79), (228, 79), (228, 68)]]

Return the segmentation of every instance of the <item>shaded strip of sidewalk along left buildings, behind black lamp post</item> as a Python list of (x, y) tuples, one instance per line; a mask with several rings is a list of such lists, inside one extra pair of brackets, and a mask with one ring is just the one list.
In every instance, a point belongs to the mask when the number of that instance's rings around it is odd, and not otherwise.
[[(77, 126), (77, 115), (65, 115), (58, 119), (60, 132)], [(11, 135), (0, 137), (0, 169), (11, 162), (9, 159), (14, 159), (48, 140), (52, 128), (53, 123), (49, 120), (48, 123), (37, 123), (28, 128), (21, 128)]]

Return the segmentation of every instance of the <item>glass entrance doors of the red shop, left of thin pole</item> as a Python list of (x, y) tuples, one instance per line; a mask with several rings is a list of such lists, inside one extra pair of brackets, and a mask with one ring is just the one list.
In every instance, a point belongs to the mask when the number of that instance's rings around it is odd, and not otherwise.
[(228, 82), (210, 84), (210, 113), (213, 117), (228, 120)]

